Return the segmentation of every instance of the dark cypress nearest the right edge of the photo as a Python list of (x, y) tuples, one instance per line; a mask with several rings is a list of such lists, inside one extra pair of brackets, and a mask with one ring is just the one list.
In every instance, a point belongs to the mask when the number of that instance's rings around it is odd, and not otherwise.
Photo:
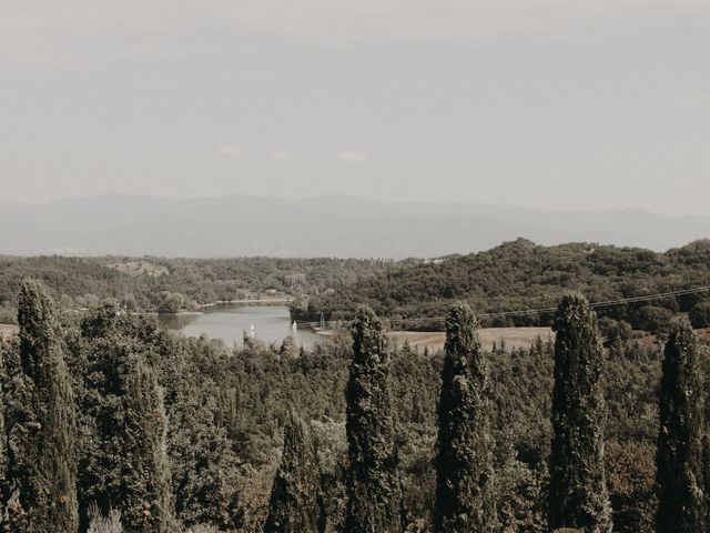
[(704, 532), (702, 383), (690, 324), (674, 324), (666, 344), (659, 400), (656, 531)]

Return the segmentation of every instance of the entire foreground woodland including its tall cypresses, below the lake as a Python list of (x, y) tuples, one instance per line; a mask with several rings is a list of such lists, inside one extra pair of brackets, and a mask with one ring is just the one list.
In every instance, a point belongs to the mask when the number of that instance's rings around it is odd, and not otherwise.
[(554, 342), (487, 353), (456, 304), (429, 353), (361, 308), (308, 352), (65, 312), (37, 282), (16, 301), (2, 531), (706, 531), (708, 348), (682, 321), (602, 349), (566, 295)]

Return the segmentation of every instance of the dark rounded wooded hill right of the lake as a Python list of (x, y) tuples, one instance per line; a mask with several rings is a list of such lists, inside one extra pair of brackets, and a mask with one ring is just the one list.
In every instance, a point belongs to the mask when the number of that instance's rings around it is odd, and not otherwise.
[[(452, 302), (466, 301), (480, 315), (548, 310), (481, 316), (485, 325), (549, 325), (556, 302), (568, 290), (604, 302), (707, 285), (707, 240), (656, 253), (585, 243), (542, 247), (518, 239), (486, 252), (396, 264), (333, 293), (298, 299), (291, 312), (296, 320), (318, 320), (321, 313), (326, 320), (348, 320), (365, 303), (393, 328), (440, 331)], [(697, 326), (710, 325), (708, 302), (710, 292), (606, 306), (599, 314), (605, 334), (657, 332), (673, 315), (691, 311)]]

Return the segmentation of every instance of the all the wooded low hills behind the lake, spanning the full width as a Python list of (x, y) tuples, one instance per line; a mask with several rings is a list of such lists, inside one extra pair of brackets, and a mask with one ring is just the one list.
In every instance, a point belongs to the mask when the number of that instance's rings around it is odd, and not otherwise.
[[(349, 320), (372, 306), (393, 329), (444, 329), (454, 301), (474, 306), (486, 326), (549, 325), (557, 300), (577, 290), (591, 302), (710, 285), (710, 241), (666, 253), (597, 244), (537, 245), (519, 239), (486, 252), (436, 260), (0, 258), (0, 323), (16, 321), (20, 282), (44, 282), (64, 309), (114, 299), (129, 311), (175, 312), (258, 298), (295, 298), (294, 320)], [(542, 310), (504, 316), (488, 314)], [(710, 291), (605, 306), (602, 334), (657, 333), (679, 313), (710, 325)]]

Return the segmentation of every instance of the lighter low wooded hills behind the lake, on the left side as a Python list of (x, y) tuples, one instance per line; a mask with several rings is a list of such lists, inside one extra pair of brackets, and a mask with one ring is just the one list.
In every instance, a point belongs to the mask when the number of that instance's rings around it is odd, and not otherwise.
[(389, 261), (339, 259), (164, 259), (0, 257), (0, 323), (14, 322), (20, 282), (44, 282), (65, 309), (111, 298), (128, 310), (174, 312), (216, 301), (318, 294), (390, 268)]

